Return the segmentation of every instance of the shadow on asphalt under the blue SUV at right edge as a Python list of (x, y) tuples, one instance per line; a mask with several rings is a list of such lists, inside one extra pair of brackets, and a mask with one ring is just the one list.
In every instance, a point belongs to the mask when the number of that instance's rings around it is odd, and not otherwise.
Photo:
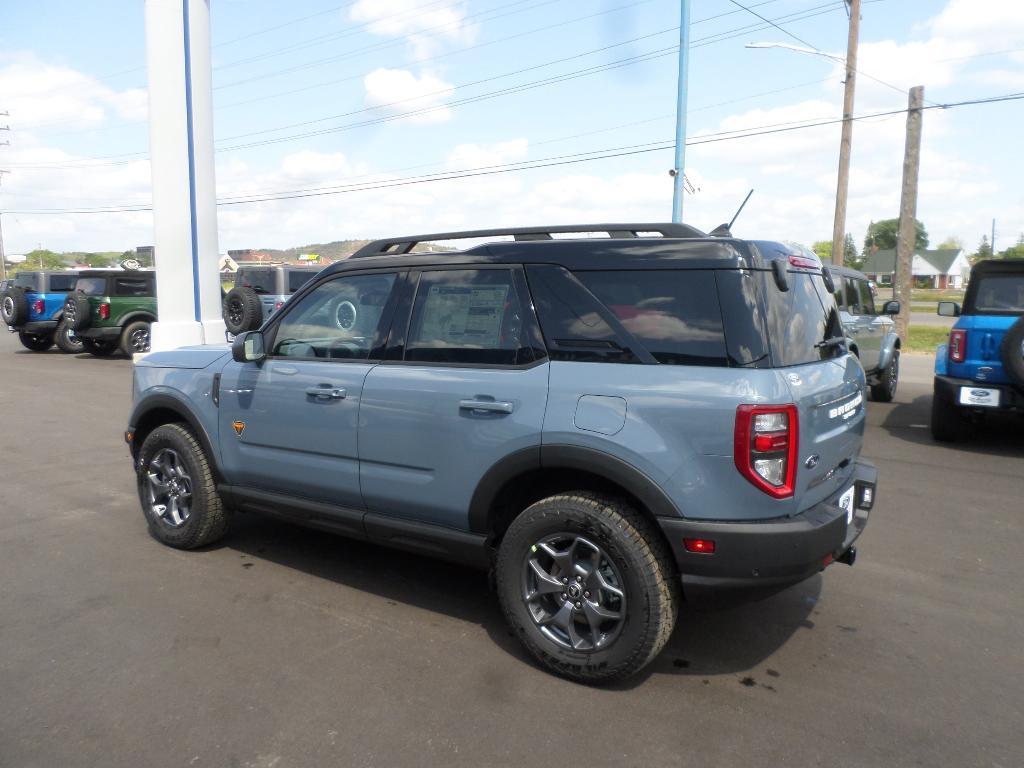
[(975, 424), (971, 436), (963, 442), (938, 442), (932, 437), (929, 424), (932, 419), (932, 395), (923, 394), (910, 402), (900, 402), (892, 408), (881, 427), (892, 437), (916, 445), (931, 445), (956, 452), (984, 456), (1024, 456), (1024, 417), (999, 414), (997, 418), (983, 419)]

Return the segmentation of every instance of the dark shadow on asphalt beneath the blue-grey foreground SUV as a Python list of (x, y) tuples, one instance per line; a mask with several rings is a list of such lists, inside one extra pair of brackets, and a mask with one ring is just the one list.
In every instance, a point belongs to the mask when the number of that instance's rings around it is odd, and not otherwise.
[[(534, 664), (506, 626), (483, 571), (258, 514), (237, 515), (224, 547), (245, 558), (267, 560), (388, 601), (477, 624), (509, 655)], [(813, 628), (808, 616), (820, 590), (821, 578), (815, 575), (759, 602), (684, 604), (659, 656), (639, 675), (609, 689), (629, 690), (655, 674), (710, 676), (753, 670), (795, 632)]]

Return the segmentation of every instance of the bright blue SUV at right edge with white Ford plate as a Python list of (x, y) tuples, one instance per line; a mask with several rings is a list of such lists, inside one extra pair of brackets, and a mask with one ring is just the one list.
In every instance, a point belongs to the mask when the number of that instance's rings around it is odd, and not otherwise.
[(939, 302), (957, 317), (935, 354), (932, 435), (966, 439), (980, 418), (1024, 413), (1024, 261), (980, 261), (964, 306)]

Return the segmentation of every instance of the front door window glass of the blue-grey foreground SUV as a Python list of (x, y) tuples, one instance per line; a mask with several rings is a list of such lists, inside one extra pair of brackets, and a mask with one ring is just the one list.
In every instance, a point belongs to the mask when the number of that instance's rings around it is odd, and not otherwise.
[(282, 317), (271, 355), (365, 360), (379, 334), (394, 273), (354, 274), (323, 283)]

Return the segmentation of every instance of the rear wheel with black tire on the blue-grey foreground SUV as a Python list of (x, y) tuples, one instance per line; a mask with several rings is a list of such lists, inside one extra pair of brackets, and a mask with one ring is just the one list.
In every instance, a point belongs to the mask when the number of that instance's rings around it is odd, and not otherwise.
[[(532, 569), (540, 558), (546, 556), (547, 550), (539, 546), (557, 546), (562, 537), (577, 543), (582, 540), (583, 547), (571, 545), (577, 550), (593, 554), (588, 545), (596, 545), (598, 550), (594, 556), (596, 565), (590, 561), (591, 573), (583, 578), (575, 594), (568, 591), (573, 587), (572, 580), (565, 582), (568, 586), (562, 594), (567, 600), (557, 593), (560, 589), (557, 582), (565, 579), (560, 578), (560, 573), (581, 573), (586, 570), (584, 565), (578, 565), (582, 570), (563, 569), (557, 560), (549, 558), (552, 570), (548, 572), (549, 578), (543, 580), (536, 580), (540, 571)], [(563, 558), (564, 553), (559, 557)], [(542, 570), (547, 568), (542, 567)], [(580, 590), (592, 583), (598, 570), (605, 574), (597, 577), (603, 580), (601, 585), (620, 582), (624, 603), (617, 603), (618, 611), (615, 611), (616, 598), (603, 589), (600, 592), (605, 594), (596, 596), (597, 603), (593, 602), (591, 592), (581, 597)], [(555, 571), (558, 574), (552, 577)], [(545, 585), (553, 585), (555, 592), (527, 599), (531, 578), (538, 584), (537, 594), (550, 592), (552, 587)], [(622, 500), (588, 492), (549, 497), (529, 506), (513, 520), (499, 549), (497, 584), (506, 621), (526, 649), (555, 674), (585, 683), (622, 679), (650, 663), (672, 634), (680, 602), (680, 585), (672, 555), (654, 524)], [(610, 607), (605, 604), (609, 596)], [(591, 599), (586, 599), (588, 597)], [(580, 602), (573, 603), (577, 599)], [(599, 623), (595, 629), (589, 620), (598, 604), (610, 611), (608, 615), (617, 613), (621, 620), (609, 620), (604, 625)], [(542, 614), (541, 620), (534, 611)], [(556, 621), (546, 625), (549, 634), (542, 631), (538, 622), (547, 617), (543, 614), (551, 614), (554, 620), (556, 612), (572, 615), (566, 625), (575, 628), (573, 634), (559, 629)], [(556, 632), (564, 635), (561, 641), (554, 637)], [(579, 646), (573, 635), (580, 640)], [(570, 649), (566, 638), (580, 649)], [(606, 644), (601, 645), (602, 642)]]

